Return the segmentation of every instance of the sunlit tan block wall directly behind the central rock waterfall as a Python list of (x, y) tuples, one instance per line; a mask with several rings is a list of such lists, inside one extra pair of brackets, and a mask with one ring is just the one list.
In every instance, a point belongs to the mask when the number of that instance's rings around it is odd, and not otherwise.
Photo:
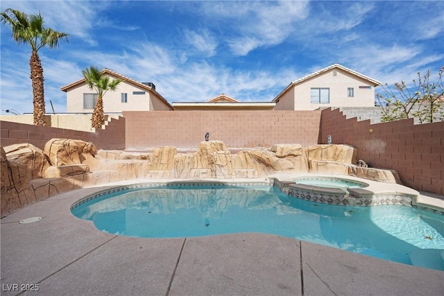
[(194, 148), (205, 140), (227, 147), (266, 147), (276, 143), (318, 143), (321, 111), (157, 111), (123, 112), (126, 149), (154, 146)]

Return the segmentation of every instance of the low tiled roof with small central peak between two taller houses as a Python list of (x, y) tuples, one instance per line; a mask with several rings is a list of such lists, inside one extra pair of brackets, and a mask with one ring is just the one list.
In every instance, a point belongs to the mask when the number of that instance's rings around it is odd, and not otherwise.
[(274, 102), (241, 102), (220, 94), (205, 102), (173, 102), (175, 111), (184, 110), (273, 110)]

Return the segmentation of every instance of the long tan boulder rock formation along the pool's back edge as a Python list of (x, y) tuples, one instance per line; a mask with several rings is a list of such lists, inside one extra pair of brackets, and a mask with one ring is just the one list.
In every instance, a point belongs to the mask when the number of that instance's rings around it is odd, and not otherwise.
[[(6, 153), (7, 151), (8, 153)], [(148, 178), (254, 178), (273, 173), (333, 173), (398, 182), (395, 171), (356, 166), (348, 145), (277, 144), (232, 154), (222, 141), (203, 141), (197, 150), (155, 147), (150, 153), (96, 150), (93, 143), (51, 139), (44, 151), (30, 144), (1, 148), (1, 216), (67, 191)]]

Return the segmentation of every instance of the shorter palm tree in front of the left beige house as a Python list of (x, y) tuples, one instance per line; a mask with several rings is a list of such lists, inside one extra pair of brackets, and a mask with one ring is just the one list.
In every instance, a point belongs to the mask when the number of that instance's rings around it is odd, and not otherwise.
[(110, 80), (109, 76), (103, 75), (98, 68), (93, 66), (89, 67), (89, 69), (86, 68), (82, 73), (89, 89), (94, 89), (99, 95), (97, 103), (94, 106), (94, 112), (92, 112), (91, 126), (93, 128), (101, 128), (103, 123), (105, 123), (105, 117), (103, 116), (103, 96), (109, 90), (114, 92), (121, 80)]

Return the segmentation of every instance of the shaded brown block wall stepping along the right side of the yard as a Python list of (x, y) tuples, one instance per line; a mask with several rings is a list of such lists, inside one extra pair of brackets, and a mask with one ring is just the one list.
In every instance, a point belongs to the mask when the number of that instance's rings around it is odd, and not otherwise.
[(345, 119), (339, 109), (323, 110), (319, 143), (357, 148), (371, 167), (393, 169), (413, 189), (444, 195), (444, 122), (413, 124), (413, 119), (370, 124)]

